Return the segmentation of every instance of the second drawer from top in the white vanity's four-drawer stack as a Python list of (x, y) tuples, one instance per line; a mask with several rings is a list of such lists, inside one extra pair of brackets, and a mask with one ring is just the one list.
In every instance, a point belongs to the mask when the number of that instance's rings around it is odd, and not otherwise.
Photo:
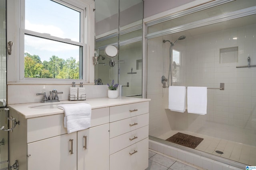
[(148, 125), (149, 113), (110, 123), (110, 139)]

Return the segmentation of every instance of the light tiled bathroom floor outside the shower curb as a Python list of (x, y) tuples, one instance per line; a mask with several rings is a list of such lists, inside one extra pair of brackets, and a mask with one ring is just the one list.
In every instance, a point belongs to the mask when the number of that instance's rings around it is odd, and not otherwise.
[(148, 168), (146, 170), (200, 170), (178, 162), (170, 157), (164, 156), (153, 152), (152, 150), (148, 151)]

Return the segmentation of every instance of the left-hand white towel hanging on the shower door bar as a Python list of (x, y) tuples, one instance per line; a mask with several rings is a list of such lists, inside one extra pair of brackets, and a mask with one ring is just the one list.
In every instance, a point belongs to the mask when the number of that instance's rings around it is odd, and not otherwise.
[(186, 87), (169, 86), (169, 107), (172, 111), (184, 112), (186, 109)]

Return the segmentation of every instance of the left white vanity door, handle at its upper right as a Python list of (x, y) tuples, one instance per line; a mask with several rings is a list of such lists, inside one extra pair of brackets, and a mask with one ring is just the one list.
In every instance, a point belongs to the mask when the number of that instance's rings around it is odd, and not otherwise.
[(29, 143), (28, 170), (76, 170), (76, 137), (70, 133)]

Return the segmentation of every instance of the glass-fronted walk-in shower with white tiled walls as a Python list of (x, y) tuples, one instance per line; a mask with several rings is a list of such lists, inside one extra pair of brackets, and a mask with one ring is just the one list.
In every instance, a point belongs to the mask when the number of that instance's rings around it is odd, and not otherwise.
[[(220, 2), (220, 1), (218, 1)], [(150, 139), (168, 142), (185, 134), (188, 141), (202, 139), (194, 148), (223, 160), (256, 165), (256, 2), (211, 2), (203, 7), (146, 23), (146, 96), (150, 98)], [(168, 77), (170, 43), (172, 86), (204, 86), (207, 114), (168, 109), (169, 90), (161, 77)], [(175, 62), (175, 63), (174, 63)], [(170, 83), (170, 78), (169, 80)], [(195, 138), (194, 138), (195, 137)], [(181, 138), (185, 138), (181, 136)], [(191, 147), (192, 148), (192, 147)]]

